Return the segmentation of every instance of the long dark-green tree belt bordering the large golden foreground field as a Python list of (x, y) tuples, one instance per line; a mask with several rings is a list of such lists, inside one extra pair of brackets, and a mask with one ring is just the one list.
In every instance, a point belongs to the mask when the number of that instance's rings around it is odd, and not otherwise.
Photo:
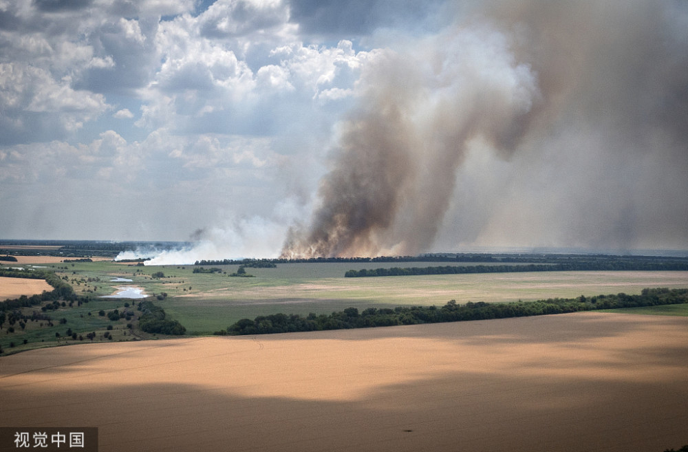
[(271, 334), (319, 330), (344, 330), (419, 323), (442, 323), (469, 320), (506, 319), (509, 317), (563, 314), (600, 309), (636, 308), (640, 306), (688, 303), (688, 289), (643, 289), (639, 295), (611, 294), (572, 299), (517, 301), (515, 303), (477, 303), (464, 305), (451, 300), (446, 305), (400, 306), (391, 308), (346, 308), (330, 315), (272, 314), (255, 319), (241, 319), (226, 331), (215, 334)]

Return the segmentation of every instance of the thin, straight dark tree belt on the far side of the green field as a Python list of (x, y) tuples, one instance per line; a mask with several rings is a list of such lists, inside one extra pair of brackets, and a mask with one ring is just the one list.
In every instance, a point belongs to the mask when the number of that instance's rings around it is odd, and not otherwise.
[(688, 262), (643, 261), (634, 259), (576, 260), (568, 263), (529, 263), (515, 265), (439, 266), (411, 268), (375, 268), (371, 270), (347, 270), (345, 278), (413, 276), (413, 275), (460, 275), (464, 273), (504, 272), (561, 272), (571, 270), (688, 270)]

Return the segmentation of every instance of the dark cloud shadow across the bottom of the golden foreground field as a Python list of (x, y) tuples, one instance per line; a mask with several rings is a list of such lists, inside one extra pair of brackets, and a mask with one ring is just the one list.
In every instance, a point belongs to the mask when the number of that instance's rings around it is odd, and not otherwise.
[(2, 392), (3, 425), (98, 427), (103, 452), (645, 452), (682, 445), (688, 421), (685, 380), (667, 385), (456, 372), (350, 401), (107, 381), (69, 391)]

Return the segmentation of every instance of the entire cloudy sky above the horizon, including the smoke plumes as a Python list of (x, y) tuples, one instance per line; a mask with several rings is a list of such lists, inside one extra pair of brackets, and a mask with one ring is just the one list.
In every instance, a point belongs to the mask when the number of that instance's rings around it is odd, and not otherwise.
[(687, 69), (682, 0), (0, 0), (0, 237), (687, 250)]

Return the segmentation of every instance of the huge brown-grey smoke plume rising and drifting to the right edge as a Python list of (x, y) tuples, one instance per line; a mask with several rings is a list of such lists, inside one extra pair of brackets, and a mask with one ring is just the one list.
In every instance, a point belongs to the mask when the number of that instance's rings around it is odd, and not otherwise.
[(488, 5), (365, 67), (283, 256), (415, 254), (447, 222), (474, 244), (685, 246), (686, 3)]

